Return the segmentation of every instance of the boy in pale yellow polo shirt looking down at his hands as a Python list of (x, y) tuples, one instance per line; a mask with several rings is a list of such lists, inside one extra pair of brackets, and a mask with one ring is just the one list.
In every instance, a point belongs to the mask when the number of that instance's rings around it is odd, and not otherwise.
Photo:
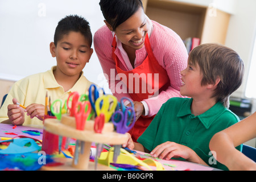
[[(89, 23), (69, 15), (58, 23), (50, 43), (57, 65), (51, 70), (15, 82), (0, 110), (0, 122), (13, 125), (43, 125), (46, 93), (51, 101), (66, 100), (71, 92), (86, 93), (92, 82), (83, 75), (93, 53)], [(16, 103), (26, 106), (23, 109)]]

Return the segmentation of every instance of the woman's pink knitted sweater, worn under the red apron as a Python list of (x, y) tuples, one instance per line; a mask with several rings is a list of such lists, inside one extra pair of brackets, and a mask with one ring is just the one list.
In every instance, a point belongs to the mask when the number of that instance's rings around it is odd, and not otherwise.
[[(177, 35), (170, 28), (163, 26), (157, 22), (151, 21), (154, 26), (150, 35), (150, 44), (152, 51), (158, 63), (166, 69), (168, 77), (170, 78), (170, 86), (159, 93), (156, 97), (151, 97), (143, 100), (148, 105), (148, 116), (158, 113), (160, 107), (171, 97), (181, 97), (180, 72), (187, 67), (188, 53), (180, 36)], [(117, 38), (116, 38), (117, 39)], [(112, 58), (112, 41), (113, 33), (108, 27), (103, 26), (94, 34), (94, 49), (97, 53), (98, 59), (105, 73), (106, 79), (109, 81), (109, 88), (118, 98), (129, 97), (129, 93), (119, 93), (116, 84), (120, 80), (116, 79), (117, 71), (115, 69), (115, 61)], [(133, 69), (128, 59), (128, 56), (121, 46), (121, 42), (117, 39), (117, 49), (115, 54), (118, 56), (121, 63), (119, 67), (123, 71)], [(145, 46), (136, 51), (135, 68), (143, 63), (147, 52)]]

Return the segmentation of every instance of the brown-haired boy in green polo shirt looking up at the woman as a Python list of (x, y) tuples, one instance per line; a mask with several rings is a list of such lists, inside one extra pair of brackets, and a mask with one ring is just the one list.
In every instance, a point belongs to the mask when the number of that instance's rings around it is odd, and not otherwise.
[(187, 68), (181, 71), (180, 87), (181, 95), (191, 98), (168, 100), (138, 138), (139, 143), (129, 139), (124, 146), (150, 152), (155, 158), (183, 158), (227, 169), (213, 159), (209, 142), (218, 131), (239, 121), (228, 107), (229, 96), (241, 85), (243, 73), (243, 61), (232, 49), (220, 44), (194, 48)]

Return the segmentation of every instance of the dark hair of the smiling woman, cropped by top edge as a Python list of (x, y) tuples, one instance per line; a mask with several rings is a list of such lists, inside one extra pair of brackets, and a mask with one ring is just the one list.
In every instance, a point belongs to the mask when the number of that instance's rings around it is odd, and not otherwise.
[(143, 8), (141, 0), (101, 0), (99, 4), (106, 22), (112, 26), (113, 31), (136, 13), (139, 7)]

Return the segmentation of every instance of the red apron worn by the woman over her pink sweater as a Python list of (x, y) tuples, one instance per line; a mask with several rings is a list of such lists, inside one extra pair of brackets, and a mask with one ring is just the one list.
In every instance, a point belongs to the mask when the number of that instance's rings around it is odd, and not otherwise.
[[(167, 75), (166, 70), (161, 65), (159, 65), (158, 61), (155, 59), (154, 53), (150, 46), (148, 35), (146, 35), (144, 45), (146, 47), (147, 57), (143, 61), (143, 63), (131, 71), (123, 71), (121, 68), (119, 68), (119, 63), (121, 62), (119, 61), (117, 55), (115, 55), (114, 53), (117, 47), (115, 36), (112, 42), (112, 57), (115, 60), (115, 68), (117, 69), (117, 73), (123, 73), (126, 75), (127, 80), (125, 81), (125, 83), (127, 84), (127, 93), (130, 94), (133, 101), (138, 102), (154, 95), (155, 92), (152, 92), (152, 90), (149, 90), (148, 88), (157, 90), (158, 93), (160, 93), (162, 90), (166, 90), (168, 86), (170, 86), (170, 79)], [(133, 83), (133, 85), (130, 86), (129, 74), (133, 75), (133, 77), (131, 77), (130, 75), (130, 77), (133, 78), (133, 82), (131, 82)], [(156, 74), (158, 75), (159, 82), (155, 85), (155, 79), (157, 78), (155, 77)], [(147, 86), (147, 88), (144, 88), (145, 85)], [(143, 134), (148, 125), (150, 125), (154, 117), (155, 115), (152, 117), (139, 117), (139, 119), (135, 122), (134, 127), (129, 131), (129, 133), (131, 134), (131, 138), (133, 139), (134, 142), (137, 142), (137, 139)]]

